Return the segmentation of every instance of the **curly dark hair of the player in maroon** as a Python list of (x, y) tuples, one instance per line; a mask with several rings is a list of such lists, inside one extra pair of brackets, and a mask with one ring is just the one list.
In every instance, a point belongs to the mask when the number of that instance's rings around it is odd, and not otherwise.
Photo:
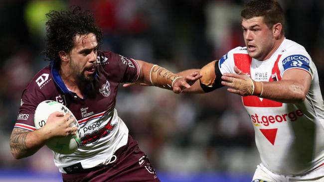
[(95, 17), (90, 11), (83, 11), (79, 6), (71, 6), (67, 10), (51, 10), (46, 13), (46, 48), (44, 54), (56, 66), (61, 64), (59, 51), (70, 52), (74, 46), (75, 35), (93, 33), (96, 35), (98, 49), (102, 45), (103, 32), (95, 24)]

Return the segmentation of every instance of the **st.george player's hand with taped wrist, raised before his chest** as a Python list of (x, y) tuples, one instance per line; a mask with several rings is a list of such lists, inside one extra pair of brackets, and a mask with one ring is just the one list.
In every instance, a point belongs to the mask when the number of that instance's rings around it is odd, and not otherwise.
[(241, 96), (252, 95), (254, 91), (254, 81), (246, 74), (234, 66), (234, 73), (224, 73), (221, 84), (229, 87), (227, 91)]

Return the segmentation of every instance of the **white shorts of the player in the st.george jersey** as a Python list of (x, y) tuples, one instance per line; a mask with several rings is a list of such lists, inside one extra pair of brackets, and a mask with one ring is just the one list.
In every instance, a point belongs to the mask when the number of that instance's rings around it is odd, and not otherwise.
[(252, 182), (324, 182), (324, 166), (303, 176), (284, 176), (277, 175), (260, 164)]

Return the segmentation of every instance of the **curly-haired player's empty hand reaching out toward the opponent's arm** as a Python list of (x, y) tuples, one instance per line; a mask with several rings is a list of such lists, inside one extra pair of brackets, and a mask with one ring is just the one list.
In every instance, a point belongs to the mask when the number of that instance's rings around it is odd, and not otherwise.
[(190, 88), (202, 75), (198, 72), (193, 72), (185, 77), (178, 78), (174, 81), (172, 91), (174, 93), (181, 93), (184, 89)]

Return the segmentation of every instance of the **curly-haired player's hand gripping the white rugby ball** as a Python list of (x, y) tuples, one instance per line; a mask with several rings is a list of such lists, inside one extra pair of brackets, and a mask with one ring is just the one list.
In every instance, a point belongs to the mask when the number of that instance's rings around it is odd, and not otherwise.
[(71, 127), (74, 121), (75, 118), (70, 113), (64, 115), (64, 113), (56, 111), (48, 116), (45, 126), (41, 129), (48, 139), (73, 135), (77, 131), (76, 127)]

